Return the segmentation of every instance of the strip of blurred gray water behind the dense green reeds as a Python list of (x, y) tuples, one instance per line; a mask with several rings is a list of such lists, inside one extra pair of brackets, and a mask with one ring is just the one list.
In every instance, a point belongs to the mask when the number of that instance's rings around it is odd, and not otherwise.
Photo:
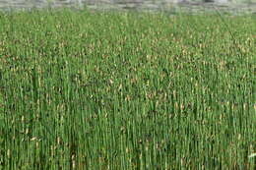
[(72, 7), (93, 10), (138, 10), (169, 12), (223, 11), (256, 14), (256, 0), (0, 0), (0, 10)]

